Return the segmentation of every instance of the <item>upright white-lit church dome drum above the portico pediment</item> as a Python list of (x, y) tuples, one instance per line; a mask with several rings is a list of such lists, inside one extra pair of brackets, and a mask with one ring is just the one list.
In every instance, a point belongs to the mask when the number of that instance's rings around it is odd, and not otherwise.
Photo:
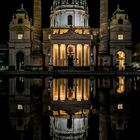
[(54, 0), (50, 21), (51, 27), (88, 26), (88, 6), (86, 0)]

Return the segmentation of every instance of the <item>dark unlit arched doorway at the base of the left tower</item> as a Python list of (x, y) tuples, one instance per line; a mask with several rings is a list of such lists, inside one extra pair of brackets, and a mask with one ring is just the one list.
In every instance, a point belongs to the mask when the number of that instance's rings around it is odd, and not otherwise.
[(22, 52), (18, 52), (16, 55), (16, 69), (22, 70), (24, 66), (24, 54)]

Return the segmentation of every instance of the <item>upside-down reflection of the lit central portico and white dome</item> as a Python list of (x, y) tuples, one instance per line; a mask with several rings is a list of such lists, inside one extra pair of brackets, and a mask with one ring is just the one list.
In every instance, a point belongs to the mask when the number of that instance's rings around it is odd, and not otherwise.
[(92, 111), (90, 80), (82, 78), (52, 79), (50, 135), (56, 139), (81, 139), (88, 136), (88, 116)]

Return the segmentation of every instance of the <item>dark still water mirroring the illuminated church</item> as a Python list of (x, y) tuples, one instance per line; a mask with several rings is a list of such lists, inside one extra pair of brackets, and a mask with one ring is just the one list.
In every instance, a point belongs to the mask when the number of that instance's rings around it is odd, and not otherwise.
[(139, 139), (140, 77), (0, 77), (1, 137)]

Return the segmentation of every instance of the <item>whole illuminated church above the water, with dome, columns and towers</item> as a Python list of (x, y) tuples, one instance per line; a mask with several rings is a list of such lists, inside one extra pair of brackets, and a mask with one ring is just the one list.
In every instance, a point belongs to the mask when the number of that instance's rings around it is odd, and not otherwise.
[[(94, 10), (94, 9), (93, 9)], [(89, 26), (86, 0), (54, 0), (50, 28), (42, 28), (41, 1), (34, 0), (33, 21), (21, 5), (9, 24), (9, 67), (125, 70), (131, 65), (131, 23), (119, 6), (108, 18), (100, 0), (100, 27)]]

